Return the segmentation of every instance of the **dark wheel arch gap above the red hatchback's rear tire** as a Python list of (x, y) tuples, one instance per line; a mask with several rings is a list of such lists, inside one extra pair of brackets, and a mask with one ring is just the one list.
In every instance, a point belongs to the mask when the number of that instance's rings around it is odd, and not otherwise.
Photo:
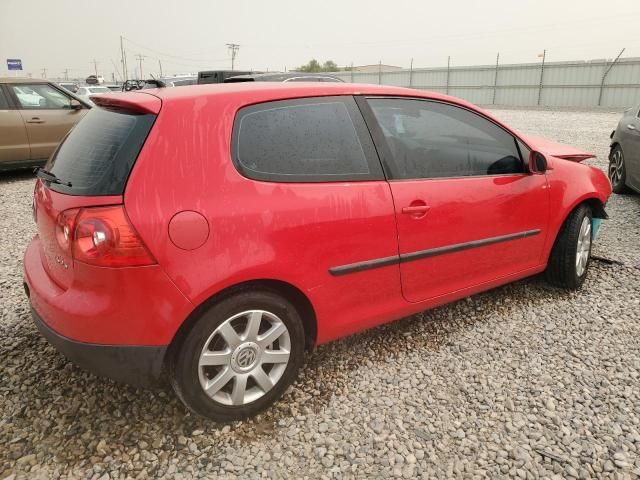
[(273, 292), (289, 300), (300, 314), (305, 335), (305, 348), (307, 350), (313, 350), (313, 348), (315, 348), (318, 325), (315, 309), (309, 298), (299, 288), (288, 282), (274, 279), (255, 279), (230, 285), (200, 303), (182, 322), (171, 339), (165, 355), (165, 363), (204, 311), (215, 303), (246, 290)]

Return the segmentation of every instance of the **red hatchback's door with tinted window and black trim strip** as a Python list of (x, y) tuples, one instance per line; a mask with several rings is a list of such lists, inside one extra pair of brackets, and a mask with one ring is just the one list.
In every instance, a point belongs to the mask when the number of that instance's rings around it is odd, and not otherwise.
[(528, 151), (511, 133), (436, 101), (369, 98), (364, 111), (375, 119), (370, 128), (391, 185), (406, 300), (544, 263), (547, 181), (527, 172)]

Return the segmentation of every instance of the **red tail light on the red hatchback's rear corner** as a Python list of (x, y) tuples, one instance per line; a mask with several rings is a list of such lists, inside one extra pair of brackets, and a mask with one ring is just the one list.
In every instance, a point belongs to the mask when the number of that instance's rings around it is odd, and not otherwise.
[(122, 205), (72, 209), (58, 216), (60, 247), (78, 262), (99, 267), (156, 263)]

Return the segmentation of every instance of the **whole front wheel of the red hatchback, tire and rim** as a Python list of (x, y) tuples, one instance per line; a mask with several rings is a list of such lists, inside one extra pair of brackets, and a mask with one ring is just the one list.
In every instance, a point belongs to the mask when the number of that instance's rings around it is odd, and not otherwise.
[(547, 280), (558, 287), (577, 289), (587, 277), (591, 259), (592, 213), (578, 206), (560, 228), (547, 265)]

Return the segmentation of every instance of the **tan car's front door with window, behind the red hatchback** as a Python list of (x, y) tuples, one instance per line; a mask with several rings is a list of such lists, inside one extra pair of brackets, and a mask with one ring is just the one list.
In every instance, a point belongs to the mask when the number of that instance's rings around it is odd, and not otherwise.
[(48, 83), (10, 85), (26, 125), (31, 160), (49, 158), (62, 138), (87, 112), (74, 109), (72, 97)]

